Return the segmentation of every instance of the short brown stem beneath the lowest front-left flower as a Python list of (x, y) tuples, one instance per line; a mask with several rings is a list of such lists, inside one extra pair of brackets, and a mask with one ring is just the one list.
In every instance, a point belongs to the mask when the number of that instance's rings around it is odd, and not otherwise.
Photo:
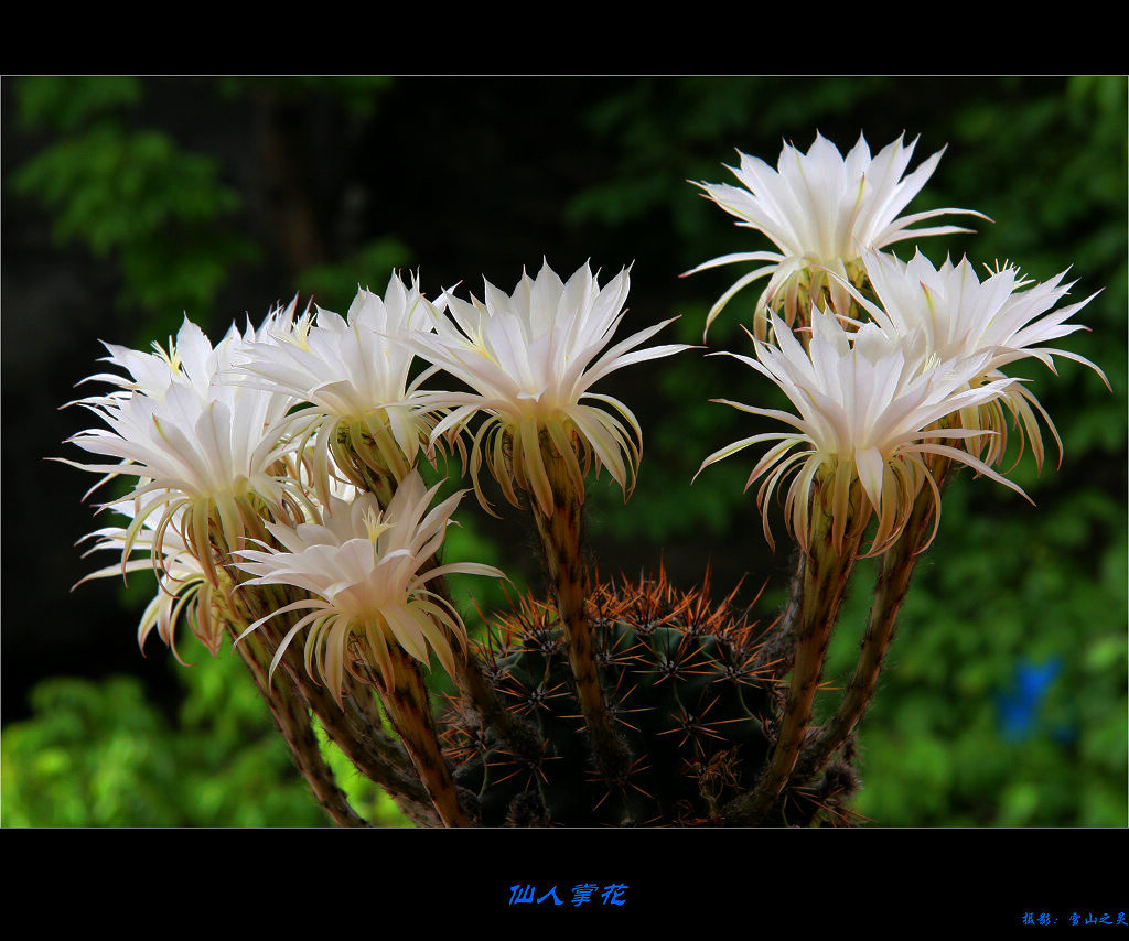
[(388, 645), (388, 654), (391, 674), (378, 676), (378, 689), (388, 719), (408, 748), (444, 826), (469, 827), (471, 820), (458, 802), (455, 780), (439, 748), (423, 674), (417, 661), (395, 644)]

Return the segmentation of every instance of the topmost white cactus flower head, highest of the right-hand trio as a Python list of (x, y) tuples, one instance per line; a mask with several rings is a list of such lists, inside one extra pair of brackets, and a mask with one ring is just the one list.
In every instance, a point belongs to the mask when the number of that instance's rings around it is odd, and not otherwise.
[(773, 170), (763, 160), (745, 153), (739, 167), (728, 169), (744, 188), (726, 183), (699, 183), (706, 195), (742, 221), (776, 243), (779, 252), (738, 252), (712, 258), (688, 272), (704, 271), (732, 262), (767, 262), (733, 284), (710, 309), (706, 328), (729, 299), (742, 288), (771, 275), (756, 309), (756, 335), (763, 338), (764, 311), (776, 309), (782, 297), (785, 322), (795, 322), (797, 309), (806, 314), (825, 287), (831, 307), (847, 314), (850, 297), (826, 271), (844, 280), (857, 275), (857, 264), (868, 248), (882, 248), (908, 238), (966, 232), (956, 226), (912, 229), (910, 226), (945, 213), (979, 216), (968, 209), (934, 209), (899, 217), (905, 205), (933, 175), (943, 150), (934, 153), (913, 173), (902, 178), (913, 155), (914, 140), (902, 146), (902, 138), (884, 147), (872, 159), (865, 138), (842, 157), (820, 134), (807, 153), (785, 144)]

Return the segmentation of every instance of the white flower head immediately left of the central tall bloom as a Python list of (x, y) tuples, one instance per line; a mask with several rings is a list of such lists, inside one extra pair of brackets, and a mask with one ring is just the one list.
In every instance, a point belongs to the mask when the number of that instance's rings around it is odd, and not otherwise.
[(266, 340), (244, 348), (233, 371), (242, 378), (234, 381), (309, 403), (288, 421), (305, 422), (307, 440), (316, 436), (315, 480), (323, 499), (329, 455), (342, 429), (355, 450), (397, 480), (414, 466), (435, 420), (414, 402), (428, 373), (409, 384), (414, 354), (403, 341), (434, 329), (432, 322), (418, 282), (405, 287), (393, 272), (383, 298), (359, 290), (347, 317), (318, 308), (316, 322), (281, 323)]

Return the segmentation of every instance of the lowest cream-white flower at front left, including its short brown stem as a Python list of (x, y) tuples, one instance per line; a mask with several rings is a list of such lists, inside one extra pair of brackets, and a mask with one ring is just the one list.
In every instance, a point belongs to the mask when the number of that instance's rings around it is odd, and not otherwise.
[(465, 824), (466, 816), (439, 749), (420, 666), (435, 652), (455, 676), (453, 642), (465, 647), (466, 628), (429, 582), (452, 572), (505, 574), (472, 562), (427, 568), (462, 498), (456, 493), (430, 509), (438, 486), (426, 490), (413, 471), (383, 511), (370, 493), (352, 503), (331, 496), (320, 522), (268, 525), (282, 549), (236, 555), (238, 566), (253, 575), (247, 584), (295, 586), (312, 596), (254, 622), (240, 640), (278, 615), (308, 610), (282, 637), (271, 672), (295, 636), (308, 628), (309, 675), (321, 678), (342, 709), (347, 670), (377, 687), (436, 810), (446, 824), (456, 825)]

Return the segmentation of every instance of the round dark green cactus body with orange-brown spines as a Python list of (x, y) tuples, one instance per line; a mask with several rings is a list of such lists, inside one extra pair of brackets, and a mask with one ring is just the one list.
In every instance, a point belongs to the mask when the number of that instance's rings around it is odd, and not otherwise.
[[(734, 592), (735, 595), (736, 592)], [(445, 716), (446, 754), (481, 826), (724, 825), (725, 807), (751, 792), (774, 744), (782, 696), (754, 668), (755, 624), (708, 601), (707, 581), (679, 592), (657, 580), (599, 586), (588, 607), (596, 660), (615, 731), (631, 755), (620, 784), (601, 777), (588, 747), (553, 605), (528, 598), (479, 644), (488, 683), (544, 742), (517, 757), (466, 701)], [(857, 789), (849, 763), (815, 784), (796, 782), (768, 824), (841, 824)], [(467, 801), (473, 806), (474, 801)]]

